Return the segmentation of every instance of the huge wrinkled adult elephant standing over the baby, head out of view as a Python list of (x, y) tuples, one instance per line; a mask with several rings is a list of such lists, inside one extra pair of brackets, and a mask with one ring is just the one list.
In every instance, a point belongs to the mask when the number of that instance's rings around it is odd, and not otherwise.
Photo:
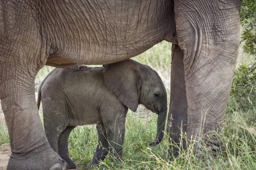
[[(167, 40), (178, 44), (172, 47), (168, 117), (173, 140), (180, 142), (181, 122), (188, 136), (199, 139), (225, 113), (239, 48), (240, 0), (1, 0), (0, 10), (9, 170), (67, 169), (49, 146), (35, 102), (35, 76), (44, 65), (117, 62)], [(206, 143), (218, 145), (213, 138)]]

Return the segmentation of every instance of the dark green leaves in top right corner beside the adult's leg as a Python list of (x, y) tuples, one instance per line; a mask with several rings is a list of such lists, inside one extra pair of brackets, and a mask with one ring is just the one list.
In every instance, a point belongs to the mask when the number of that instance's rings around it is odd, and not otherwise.
[(244, 52), (256, 57), (256, 0), (242, 0), (240, 23), (244, 28), (241, 40)]

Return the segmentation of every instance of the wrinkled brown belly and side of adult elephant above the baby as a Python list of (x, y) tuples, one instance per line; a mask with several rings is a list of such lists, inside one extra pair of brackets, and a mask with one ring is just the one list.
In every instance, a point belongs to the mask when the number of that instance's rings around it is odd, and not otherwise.
[[(46, 65), (58, 68), (73, 64), (102, 65), (137, 56), (153, 45), (173, 41), (175, 21), (173, 3), (147, 0), (81, 1), (84, 8), (74, 10), (73, 1), (52, 10), (51, 20), (42, 16), (46, 30)], [(80, 1), (79, 1), (80, 2)], [(55, 7), (58, 8), (59, 3)], [(65, 11), (66, 10), (66, 11)], [(171, 10), (171, 11), (170, 11)], [(73, 15), (70, 14), (70, 11)], [(81, 13), (82, 11), (82, 13)], [(58, 16), (58, 17), (55, 17)], [(61, 19), (60, 19), (61, 18)], [(51, 22), (50, 22), (51, 21)]]

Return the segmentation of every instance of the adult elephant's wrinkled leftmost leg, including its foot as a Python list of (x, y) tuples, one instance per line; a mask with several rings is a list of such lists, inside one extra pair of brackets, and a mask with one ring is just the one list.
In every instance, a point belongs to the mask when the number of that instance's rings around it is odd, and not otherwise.
[(0, 49), (0, 99), (12, 149), (7, 169), (66, 169), (67, 163), (49, 146), (38, 114), (37, 61), (34, 57), (22, 58), (22, 48), (15, 53), (3, 50), (3, 46)]

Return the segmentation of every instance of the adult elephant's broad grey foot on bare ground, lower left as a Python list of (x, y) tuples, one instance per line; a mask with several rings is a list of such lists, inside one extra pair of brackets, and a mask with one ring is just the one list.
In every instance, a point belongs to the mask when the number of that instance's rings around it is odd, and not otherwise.
[(49, 147), (23, 156), (12, 153), (7, 170), (68, 170), (68, 164)]

